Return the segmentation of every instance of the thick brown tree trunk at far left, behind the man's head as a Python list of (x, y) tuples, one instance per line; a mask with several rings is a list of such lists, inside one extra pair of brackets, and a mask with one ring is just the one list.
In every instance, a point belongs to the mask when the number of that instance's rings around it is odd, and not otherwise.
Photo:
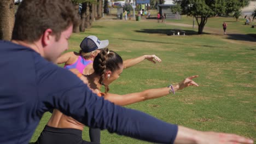
[(11, 40), (15, 20), (14, 0), (0, 1), (0, 39)]

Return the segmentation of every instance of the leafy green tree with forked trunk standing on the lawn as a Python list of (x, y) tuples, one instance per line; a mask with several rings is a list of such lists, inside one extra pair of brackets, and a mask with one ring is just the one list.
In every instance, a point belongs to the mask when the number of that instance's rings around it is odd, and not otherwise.
[[(194, 16), (198, 25), (198, 34), (202, 34), (209, 17), (231, 14), (249, 4), (248, 0), (174, 0), (173, 13)], [(181, 10), (179, 10), (181, 7)]]

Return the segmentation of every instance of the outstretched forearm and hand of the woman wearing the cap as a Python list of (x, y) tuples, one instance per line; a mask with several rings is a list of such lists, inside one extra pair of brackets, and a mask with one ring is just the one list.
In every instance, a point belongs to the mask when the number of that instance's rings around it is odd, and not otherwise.
[[(156, 55), (144, 55), (144, 56), (140, 56), (140, 57), (136, 57), (136, 58), (131, 58), (131, 59), (126, 59), (124, 61), (124, 69), (126, 68), (130, 68), (133, 65), (136, 65), (142, 61), (144, 61), (144, 59), (148, 59), (148, 61), (156, 63), (155, 61), (158, 61), (159, 63), (162, 62), (162, 60), (157, 57)], [(155, 59), (155, 61), (154, 61)]]

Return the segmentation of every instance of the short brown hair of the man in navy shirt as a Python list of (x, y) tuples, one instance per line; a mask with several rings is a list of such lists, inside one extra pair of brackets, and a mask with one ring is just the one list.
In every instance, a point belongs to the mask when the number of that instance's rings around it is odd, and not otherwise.
[(32, 43), (50, 28), (57, 41), (61, 32), (77, 22), (70, 0), (24, 0), (16, 13), (11, 39)]

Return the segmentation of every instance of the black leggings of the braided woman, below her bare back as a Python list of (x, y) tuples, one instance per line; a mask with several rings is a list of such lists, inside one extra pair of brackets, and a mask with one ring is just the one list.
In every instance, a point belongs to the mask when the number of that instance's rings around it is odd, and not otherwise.
[(53, 128), (45, 125), (35, 144), (96, 144), (82, 139), (82, 130), (69, 128)]

